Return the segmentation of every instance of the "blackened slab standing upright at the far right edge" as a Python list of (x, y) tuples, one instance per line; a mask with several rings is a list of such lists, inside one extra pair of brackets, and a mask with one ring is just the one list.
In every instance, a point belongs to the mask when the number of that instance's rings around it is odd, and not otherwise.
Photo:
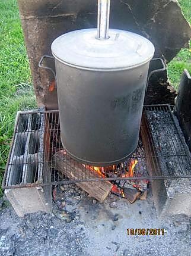
[(185, 69), (176, 99), (176, 115), (191, 151), (191, 77)]

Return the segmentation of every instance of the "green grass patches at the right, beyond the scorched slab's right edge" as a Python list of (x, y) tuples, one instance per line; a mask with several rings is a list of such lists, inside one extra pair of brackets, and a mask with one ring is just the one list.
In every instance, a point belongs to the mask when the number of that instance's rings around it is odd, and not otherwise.
[[(191, 23), (191, 1), (179, 0), (186, 19)], [(191, 41), (190, 49), (182, 49), (179, 54), (167, 65), (168, 77), (171, 85), (178, 88), (183, 70), (186, 68), (191, 74)]]

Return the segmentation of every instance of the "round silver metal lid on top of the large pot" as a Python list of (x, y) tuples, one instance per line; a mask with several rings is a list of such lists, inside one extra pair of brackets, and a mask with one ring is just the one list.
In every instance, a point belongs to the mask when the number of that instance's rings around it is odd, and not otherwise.
[(87, 70), (123, 70), (147, 63), (154, 55), (154, 45), (132, 32), (109, 29), (109, 39), (96, 38), (97, 29), (82, 29), (56, 38), (53, 56), (65, 63)]

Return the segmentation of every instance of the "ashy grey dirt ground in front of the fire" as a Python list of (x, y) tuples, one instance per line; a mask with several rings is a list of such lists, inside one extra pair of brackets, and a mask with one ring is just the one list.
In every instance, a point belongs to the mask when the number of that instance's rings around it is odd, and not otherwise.
[[(75, 185), (58, 186), (52, 214), (19, 218), (3, 200), (0, 208), (2, 256), (191, 255), (189, 218), (157, 217), (151, 192), (134, 204), (116, 195), (100, 204)], [(127, 234), (136, 228), (164, 229), (164, 235)]]

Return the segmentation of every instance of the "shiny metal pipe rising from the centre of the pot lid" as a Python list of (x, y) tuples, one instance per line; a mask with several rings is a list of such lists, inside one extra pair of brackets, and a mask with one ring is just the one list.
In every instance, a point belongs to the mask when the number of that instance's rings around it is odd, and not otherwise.
[(110, 0), (98, 0), (97, 39), (109, 39)]

